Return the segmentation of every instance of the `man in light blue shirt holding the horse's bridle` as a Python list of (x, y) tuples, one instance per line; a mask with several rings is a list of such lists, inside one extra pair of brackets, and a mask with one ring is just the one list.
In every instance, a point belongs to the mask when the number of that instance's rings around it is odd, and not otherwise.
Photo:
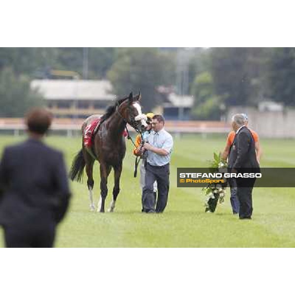
[[(165, 119), (161, 115), (152, 118), (153, 131), (148, 135), (148, 140), (143, 149), (148, 151), (145, 186), (143, 189), (142, 203), (144, 212), (161, 213), (164, 211), (169, 193), (170, 158), (173, 148), (173, 138), (164, 129)], [(155, 208), (153, 183), (158, 184), (158, 198)]]

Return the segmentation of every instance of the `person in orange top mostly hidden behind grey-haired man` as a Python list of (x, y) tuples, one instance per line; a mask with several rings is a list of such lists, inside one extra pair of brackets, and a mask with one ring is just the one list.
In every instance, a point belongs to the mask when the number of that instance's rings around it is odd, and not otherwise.
[[(248, 116), (246, 114), (241, 114), (241, 115), (243, 115), (244, 124), (247, 127), (248, 126)], [(260, 148), (260, 143), (259, 143), (259, 136), (258, 136), (257, 132), (255, 132), (254, 130), (251, 130), (251, 129), (249, 129), (249, 130), (250, 130), (250, 132), (253, 136), (254, 142), (255, 142), (257, 161), (258, 161), (258, 163), (260, 163), (261, 148)], [(221, 155), (224, 160), (226, 160), (229, 157), (235, 136), (236, 136), (235, 131), (231, 131), (228, 134), (226, 146), (225, 146), (225, 148), (222, 152), (222, 155)], [(231, 178), (231, 180), (230, 180), (230, 188), (231, 188), (231, 205), (233, 208), (233, 213), (237, 214), (239, 211), (239, 202), (238, 202), (238, 199), (236, 196), (236, 180), (234, 178)]]

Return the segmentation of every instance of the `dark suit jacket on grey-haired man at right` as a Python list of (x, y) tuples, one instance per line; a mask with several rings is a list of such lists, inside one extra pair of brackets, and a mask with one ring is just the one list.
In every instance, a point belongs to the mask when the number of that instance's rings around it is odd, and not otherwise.
[(255, 142), (250, 130), (244, 126), (236, 134), (233, 146), (229, 155), (229, 167), (235, 168), (237, 171), (240, 168), (247, 168), (247, 171), (259, 171), (257, 162)]

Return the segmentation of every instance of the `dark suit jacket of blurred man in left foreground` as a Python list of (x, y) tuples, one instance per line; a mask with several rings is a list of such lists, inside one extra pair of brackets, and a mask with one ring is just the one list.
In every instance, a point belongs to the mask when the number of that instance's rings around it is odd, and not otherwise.
[(38, 140), (4, 149), (0, 163), (0, 224), (58, 223), (70, 190), (62, 153)]

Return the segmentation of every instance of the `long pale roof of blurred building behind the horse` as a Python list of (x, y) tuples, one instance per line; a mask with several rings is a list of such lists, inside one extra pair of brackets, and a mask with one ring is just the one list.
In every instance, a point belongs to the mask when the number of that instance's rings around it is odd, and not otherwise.
[(45, 99), (114, 100), (112, 85), (107, 80), (33, 80), (32, 89), (39, 89)]

